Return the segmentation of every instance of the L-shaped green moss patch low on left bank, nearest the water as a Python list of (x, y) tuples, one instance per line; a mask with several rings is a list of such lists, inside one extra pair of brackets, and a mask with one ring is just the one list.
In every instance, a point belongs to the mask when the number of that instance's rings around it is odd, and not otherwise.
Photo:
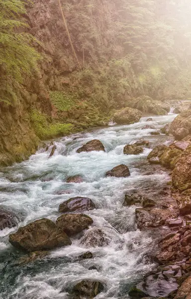
[(73, 130), (72, 124), (49, 124), (45, 114), (33, 109), (30, 114), (36, 135), (40, 139), (48, 139), (58, 135), (69, 134)]

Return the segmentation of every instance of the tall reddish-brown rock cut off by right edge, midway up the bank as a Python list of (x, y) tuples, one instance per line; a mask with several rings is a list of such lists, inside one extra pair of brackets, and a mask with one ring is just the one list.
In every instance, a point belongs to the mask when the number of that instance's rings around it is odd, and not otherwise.
[(172, 172), (173, 186), (184, 191), (191, 188), (191, 146), (181, 155)]

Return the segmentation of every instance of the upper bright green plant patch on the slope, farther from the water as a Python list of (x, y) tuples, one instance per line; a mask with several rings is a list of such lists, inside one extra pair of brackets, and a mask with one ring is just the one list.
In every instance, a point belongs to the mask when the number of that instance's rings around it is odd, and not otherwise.
[(75, 94), (62, 91), (51, 91), (50, 100), (58, 110), (68, 111), (75, 105), (77, 98)]

